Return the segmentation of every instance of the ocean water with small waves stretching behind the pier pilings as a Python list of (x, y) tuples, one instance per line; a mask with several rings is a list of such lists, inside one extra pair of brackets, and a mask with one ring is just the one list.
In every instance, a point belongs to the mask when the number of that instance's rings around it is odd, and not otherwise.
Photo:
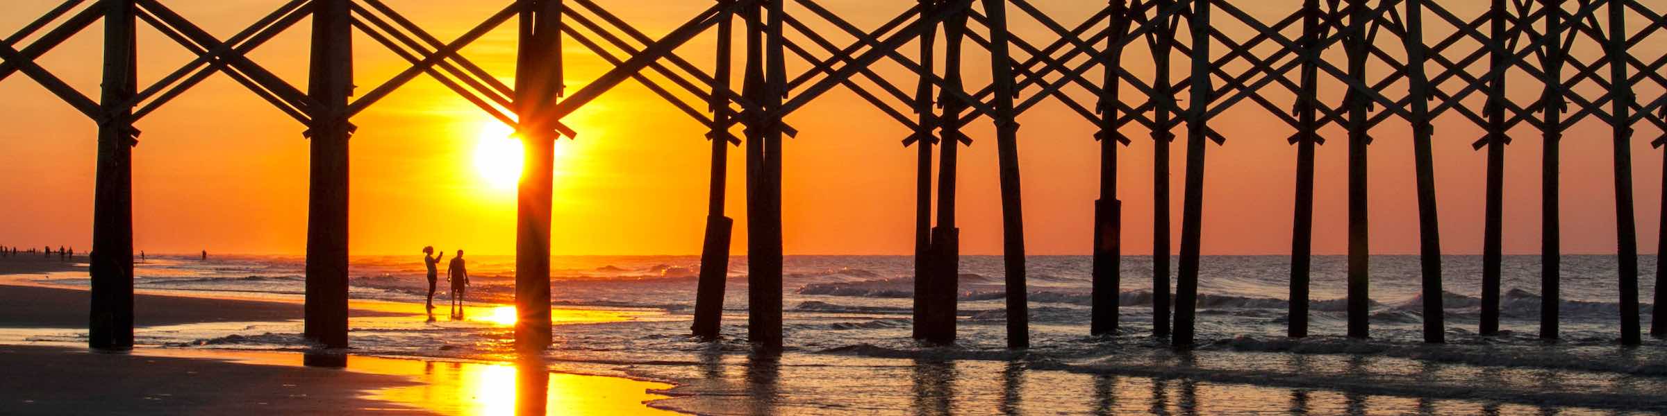
[[(465, 319), (355, 318), (355, 354), (513, 359), (512, 256), (467, 256)], [(1667, 343), (1624, 348), (1614, 256), (1562, 258), (1562, 339), (1537, 339), (1539, 256), (1505, 256), (1499, 336), (1477, 336), (1480, 256), (1445, 256), (1447, 344), (1424, 344), (1417, 256), (1372, 256), (1372, 338), (1342, 338), (1344, 256), (1315, 256), (1310, 338), (1287, 339), (1289, 256), (1205, 256), (1199, 346), (1152, 338), (1152, 258), (1122, 263), (1120, 331), (1089, 336), (1089, 256), (1032, 256), (1032, 348), (1005, 349), (1000, 256), (964, 256), (954, 346), (910, 339), (910, 256), (787, 256), (783, 354), (745, 344), (747, 260), (730, 263), (723, 339), (688, 336), (698, 256), (557, 256), (553, 369), (678, 384), (702, 414), (1612, 414), (1667, 411)], [(1644, 328), (1655, 258), (1640, 260)], [(298, 300), (300, 256), (150, 256), (137, 288)], [(352, 258), (350, 296), (422, 305), (422, 256)], [(88, 285), (57, 273), (50, 285)], [(445, 314), (445, 281), (435, 300)], [(567, 313), (563, 313), (567, 311)], [(508, 316), (513, 316), (508, 313)], [(605, 316), (602, 323), (592, 319)], [(285, 323), (140, 328), (168, 348), (305, 349)], [(37, 336), (75, 341), (85, 333)]]

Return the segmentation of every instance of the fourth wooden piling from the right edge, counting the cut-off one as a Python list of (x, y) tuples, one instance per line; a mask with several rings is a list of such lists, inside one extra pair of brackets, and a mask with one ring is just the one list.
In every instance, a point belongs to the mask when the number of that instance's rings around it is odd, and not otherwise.
[(1487, 206), (1482, 225), (1482, 323), (1479, 333), (1484, 336), (1499, 334), (1499, 281), (1500, 261), (1504, 256), (1504, 188), (1505, 188), (1505, 68), (1509, 50), (1505, 50), (1505, 20), (1509, 12), (1505, 0), (1492, 2), (1489, 57), (1492, 68), (1499, 72), (1487, 85)]

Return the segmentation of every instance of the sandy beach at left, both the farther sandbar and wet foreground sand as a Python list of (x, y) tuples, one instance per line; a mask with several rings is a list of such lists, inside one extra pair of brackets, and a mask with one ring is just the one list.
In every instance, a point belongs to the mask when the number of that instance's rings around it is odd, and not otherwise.
[[(75, 273), (83, 263), (8, 258), (0, 276)], [(542, 361), (482, 363), (353, 356), (352, 353), (227, 351), (138, 346), (90, 351), (37, 343), (30, 331), (85, 333), (85, 290), (0, 285), (8, 300), (0, 329), (23, 333), (0, 344), (3, 414), (653, 414), (672, 384), (550, 373)], [(417, 305), (420, 308), (422, 305)], [(135, 295), (140, 328), (262, 323), (302, 318), (288, 301)], [(355, 303), (353, 319), (413, 319), (418, 310)], [(23, 341), (17, 341), (23, 339)], [(97, 386), (88, 389), (88, 386)]]

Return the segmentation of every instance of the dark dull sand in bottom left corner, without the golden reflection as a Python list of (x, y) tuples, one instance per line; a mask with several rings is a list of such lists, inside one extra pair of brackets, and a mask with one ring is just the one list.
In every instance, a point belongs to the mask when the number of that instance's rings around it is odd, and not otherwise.
[(45, 346), (0, 346), (0, 368), (7, 414), (432, 414), (367, 398), (412, 379), (327, 368)]

